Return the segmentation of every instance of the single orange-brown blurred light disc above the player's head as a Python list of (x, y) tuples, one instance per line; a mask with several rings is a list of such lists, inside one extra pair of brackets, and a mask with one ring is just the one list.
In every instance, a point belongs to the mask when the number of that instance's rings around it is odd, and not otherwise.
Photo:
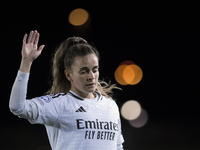
[(77, 8), (69, 14), (69, 23), (74, 26), (80, 26), (86, 23), (88, 18), (89, 13), (85, 9)]

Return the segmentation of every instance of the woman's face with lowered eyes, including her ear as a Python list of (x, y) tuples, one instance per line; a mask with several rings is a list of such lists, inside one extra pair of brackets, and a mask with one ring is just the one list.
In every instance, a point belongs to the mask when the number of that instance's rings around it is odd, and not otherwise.
[(75, 58), (71, 71), (65, 70), (71, 90), (84, 98), (93, 98), (99, 78), (99, 62), (95, 54)]

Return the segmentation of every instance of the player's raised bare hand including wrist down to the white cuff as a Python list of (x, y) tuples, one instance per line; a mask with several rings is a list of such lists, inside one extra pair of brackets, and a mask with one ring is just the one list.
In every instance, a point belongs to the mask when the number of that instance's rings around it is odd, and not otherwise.
[(31, 31), (28, 39), (27, 34), (24, 35), (23, 45), (22, 45), (22, 61), (20, 65), (20, 71), (24, 73), (29, 73), (32, 62), (41, 54), (44, 45), (41, 45), (38, 48), (39, 33)]

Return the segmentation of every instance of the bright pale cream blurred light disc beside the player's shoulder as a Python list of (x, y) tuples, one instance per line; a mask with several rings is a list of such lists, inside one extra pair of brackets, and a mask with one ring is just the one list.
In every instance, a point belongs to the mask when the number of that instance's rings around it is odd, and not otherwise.
[(121, 115), (126, 120), (134, 120), (141, 113), (141, 106), (135, 100), (129, 100), (123, 104), (121, 107)]

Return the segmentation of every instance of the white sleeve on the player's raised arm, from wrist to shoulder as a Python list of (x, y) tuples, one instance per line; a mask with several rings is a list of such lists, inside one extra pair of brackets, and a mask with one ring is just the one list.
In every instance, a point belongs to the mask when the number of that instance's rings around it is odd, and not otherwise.
[(46, 95), (31, 100), (26, 99), (29, 73), (18, 71), (12, 87), (9, 108), (10, 111), (31, 123), (54, 125), (57, 123), (59, 94)]

